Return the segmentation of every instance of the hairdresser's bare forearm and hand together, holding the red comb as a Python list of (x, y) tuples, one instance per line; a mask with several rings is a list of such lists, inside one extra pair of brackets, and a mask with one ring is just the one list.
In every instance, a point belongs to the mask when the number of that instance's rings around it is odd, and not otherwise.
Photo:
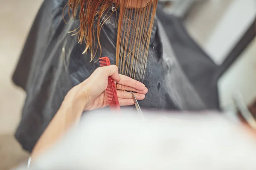
[[(137, 92), (135, 95), (139, 100), (145, 98), (145, 94), (148, 92), (145, 85), (129, 77), (119, 75), (116, 65), (97, 68), (88, 79), (67, 93), (58, 112), (35, 145), (32, 159), (55, 144), (81, 118), (83, 111), (108, 106), (105, 90), (110, 76), (119, 85), (122, 85), (122, 90)], [(130, 93), (118, 91), (117, 94), (120, 105), (134, 104)]]

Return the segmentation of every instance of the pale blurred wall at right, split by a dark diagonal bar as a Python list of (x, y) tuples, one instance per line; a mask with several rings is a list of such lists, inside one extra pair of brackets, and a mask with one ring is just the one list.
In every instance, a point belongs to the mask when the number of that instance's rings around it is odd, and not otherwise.
[[(256, 0), (208, 0), (186, 20), (191, 36), (220, 65), (256, 17)], [(218, 82), (222, 108), (233, 107), (239, 91), (249, 104), (256, 98), (256, 40)]]

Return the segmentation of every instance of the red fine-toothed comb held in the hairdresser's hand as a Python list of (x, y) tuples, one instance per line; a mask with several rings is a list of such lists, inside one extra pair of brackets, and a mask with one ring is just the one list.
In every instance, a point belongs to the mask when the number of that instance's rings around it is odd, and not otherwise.
[[(108, 57), (99, 58), (99, 64), (101, 67), (110, 65)], [(111, 77), (108, 77), (108, 87), (106, 89), (109, 107), (115, 111), (120, 111), (120, 105), (116, 92), (116, 85)]]

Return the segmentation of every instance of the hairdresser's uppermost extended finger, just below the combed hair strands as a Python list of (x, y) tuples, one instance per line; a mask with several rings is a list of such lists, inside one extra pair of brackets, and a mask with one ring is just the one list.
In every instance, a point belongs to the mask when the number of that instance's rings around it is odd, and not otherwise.
[(145, 90), (145, 85), (142, 82), (139, 82), (135, 79), (132, 79), (130, 77), (124, 76), (120, 74), (120, 80), (117, 81), (118, 84), (120, 85), (126, 85), (131, 88), (135, 88), (137, 90), (143, 91)]

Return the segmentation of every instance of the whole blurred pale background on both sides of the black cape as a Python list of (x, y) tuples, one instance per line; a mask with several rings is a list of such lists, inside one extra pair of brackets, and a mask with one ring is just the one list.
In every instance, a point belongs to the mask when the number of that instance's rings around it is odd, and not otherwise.
[[(14, 138), (25, 92), (12, 83), (23, 43), (43, 0), (0, 0), (0, 170), (27, 161)], [(256, 99), (256, 0), (165, 0), (165, 12), (180, 17), (190, 36), (220, 66), (221, 109)]]

